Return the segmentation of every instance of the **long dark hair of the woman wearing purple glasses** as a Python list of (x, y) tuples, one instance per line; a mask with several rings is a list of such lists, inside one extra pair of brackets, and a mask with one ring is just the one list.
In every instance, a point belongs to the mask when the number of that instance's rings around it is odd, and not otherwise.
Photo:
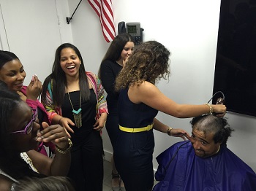
[(10, 120), (12, 114), (21, 102), (18, 93), (8, 90), (7, 85), (0, 81), (0, 169), (14, 179), (23, 176), (42, 177), (37, 174), (20, 157), (20, 152), (15, 151), (10, 137)]

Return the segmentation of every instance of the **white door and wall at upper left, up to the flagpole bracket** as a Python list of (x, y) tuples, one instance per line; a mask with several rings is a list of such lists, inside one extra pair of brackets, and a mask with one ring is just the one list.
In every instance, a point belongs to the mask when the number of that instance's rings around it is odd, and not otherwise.
[(72, 42), (71, 28), (62, 15), (69, 15), (66, 0), (0, 0), (0, 48), (20, 58), (27, 74), (25, 85), (34, 74), (43, 82), (56, 48)]

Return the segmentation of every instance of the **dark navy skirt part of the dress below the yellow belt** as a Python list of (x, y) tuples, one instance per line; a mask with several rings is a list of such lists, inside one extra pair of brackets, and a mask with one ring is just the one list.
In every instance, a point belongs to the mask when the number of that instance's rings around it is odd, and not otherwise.
[(114, 147), (116, 169), (127, 191), (148, 191), (154, 184), (154, 133), (119, 131)]

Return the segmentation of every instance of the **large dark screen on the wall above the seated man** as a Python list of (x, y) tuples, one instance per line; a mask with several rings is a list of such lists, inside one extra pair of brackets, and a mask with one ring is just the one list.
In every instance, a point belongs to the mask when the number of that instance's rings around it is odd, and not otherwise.
[(256, 116), (256, 0), (222, 0), (213, 93), (217, 91), (224, 93), (227, 111)]

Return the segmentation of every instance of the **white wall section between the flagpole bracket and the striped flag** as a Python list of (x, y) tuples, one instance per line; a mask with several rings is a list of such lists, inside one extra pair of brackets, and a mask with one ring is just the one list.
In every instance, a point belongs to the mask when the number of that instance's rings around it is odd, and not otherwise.
[[(74, 12), (80, 0), (68, 0), (70, 15)], [(83, 56), (86, 71), (98, 72), (100, 62), (108, 49), (100, 28), (99, 17), (88, 1), (82, 1), (69, 24), (72, 37)]]

